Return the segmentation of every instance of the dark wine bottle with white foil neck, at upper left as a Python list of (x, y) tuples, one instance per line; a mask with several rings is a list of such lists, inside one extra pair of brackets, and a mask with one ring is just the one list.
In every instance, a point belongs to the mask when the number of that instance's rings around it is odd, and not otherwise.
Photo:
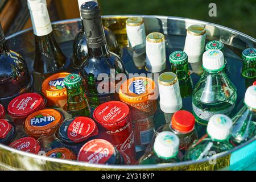
[(52, 31), (46, 0), (28, 0), (35, 34), (35, 60), (32, 68), (43, 75), (59, 72), (69, 65)]

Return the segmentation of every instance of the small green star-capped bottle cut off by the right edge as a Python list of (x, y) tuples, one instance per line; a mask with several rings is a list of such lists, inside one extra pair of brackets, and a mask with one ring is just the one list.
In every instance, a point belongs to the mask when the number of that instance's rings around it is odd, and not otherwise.
[(243, 69), (242, 76), (256, 78), (256, 48), (247, 48), (242, 53)]

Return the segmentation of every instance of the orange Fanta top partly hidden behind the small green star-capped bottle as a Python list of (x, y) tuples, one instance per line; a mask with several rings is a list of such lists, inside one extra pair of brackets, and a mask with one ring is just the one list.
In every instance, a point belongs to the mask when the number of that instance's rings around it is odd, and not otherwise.
[(67, 89), (64, 87), (64, 78), (71, 73), (56, 73), (44, 80), (42, 93), (47, 98), (47, 105), (53, 106), (59, 100), (67, 100)]

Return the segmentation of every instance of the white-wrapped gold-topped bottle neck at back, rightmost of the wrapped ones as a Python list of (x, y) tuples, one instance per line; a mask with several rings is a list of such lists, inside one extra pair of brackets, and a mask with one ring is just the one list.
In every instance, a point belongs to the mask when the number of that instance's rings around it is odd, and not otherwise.
[(184, 52), (188, 55), (188, 63), (196, 63), (202, 60), (205, 51), (205, 28), (199, 25), (188, 27)]

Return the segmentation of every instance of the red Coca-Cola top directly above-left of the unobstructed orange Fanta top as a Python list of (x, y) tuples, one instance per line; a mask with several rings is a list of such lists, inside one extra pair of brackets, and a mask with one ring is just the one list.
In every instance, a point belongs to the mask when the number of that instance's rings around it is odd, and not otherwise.
[(46, 99), (38, 93), (25, 93), (12, 100), (7, 108), (13, 118), (27, 118), (28, 115), (43, 109)]

